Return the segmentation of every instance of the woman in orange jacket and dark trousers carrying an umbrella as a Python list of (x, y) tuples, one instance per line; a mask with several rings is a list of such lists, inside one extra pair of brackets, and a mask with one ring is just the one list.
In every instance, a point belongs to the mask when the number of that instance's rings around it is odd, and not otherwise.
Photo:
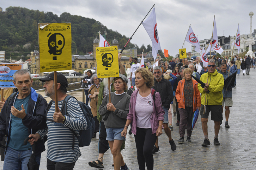
[(185, 68), (184, 78), (179, 81), (176, 90), (176, 99), (179, 103), (179, 137), (178, 143), (184, 143), (185, 126), (187, 124), (187, 142), (191, 143), (192, 119), (196, 109), (200, 110), (201, 96), (197, 89), (197, 81), (191, 78), (192, 70)]

